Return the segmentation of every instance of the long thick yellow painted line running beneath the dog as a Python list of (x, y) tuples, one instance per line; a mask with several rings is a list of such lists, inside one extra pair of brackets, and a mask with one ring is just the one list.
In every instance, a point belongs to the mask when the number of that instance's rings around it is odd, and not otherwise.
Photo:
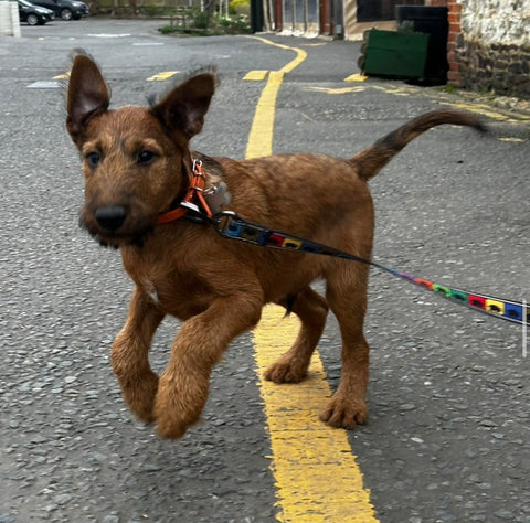
[[(304, 60), (299, 50), (277, 45), (297, 52), (297, 58), (268, 75), (257, 103), (246, 158), (272, 154), (275, 105), (284, 74)], [(267, 306), (254, 330), (255, 360), (273, 450), (272, 470), (282, 510), (277, 520), (284, 523), (377, 522), (347, 433), (330, 428), (318, 418), (331, 396), (318, 352), (315, 351), (309, 375), (303, 383), (276, 385), (262, 377), (265, 369), (293, 344), (299, 330), (295, 317), (284, 316), (284, 309)]]

